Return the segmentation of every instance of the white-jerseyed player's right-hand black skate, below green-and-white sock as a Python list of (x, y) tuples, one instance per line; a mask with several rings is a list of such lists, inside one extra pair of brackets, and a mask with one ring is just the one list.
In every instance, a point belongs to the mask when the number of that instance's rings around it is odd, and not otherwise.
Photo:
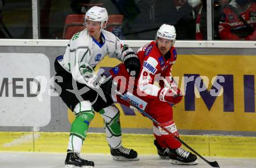
[(137, 161), (140, 160), (137, 158), (138, 154), (133, 149), (127, 149), (124, 147), (119, 147), (116, 149), (110, 149), (113, 160), (122, 160), (122, 161)]

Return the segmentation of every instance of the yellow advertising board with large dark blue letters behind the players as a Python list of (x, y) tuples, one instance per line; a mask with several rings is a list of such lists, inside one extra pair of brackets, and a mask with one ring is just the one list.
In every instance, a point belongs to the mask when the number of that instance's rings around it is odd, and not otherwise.
[[(172, 75), (184, 93), (182, 101), (173, 107), (178, 129), (256, 132), (255, 62), (256, 57), (249, 55), (178, 54), (172, 67)], [(107, 70), (119, 63), (106, 57), (97, 67)], [(219, 80), (222, 78), (224, 81)], [(205, 90), (198, 86), (200, 81)], [(151, 120), (139, 112), (119, 103), (116, 106), (120, 110), (122, 128), (152, 128)], [(74, 115), (69, 109), (67, 111), (71, 124)], [(95, 115), (90, 127), (104, 127), (102, 117)]]

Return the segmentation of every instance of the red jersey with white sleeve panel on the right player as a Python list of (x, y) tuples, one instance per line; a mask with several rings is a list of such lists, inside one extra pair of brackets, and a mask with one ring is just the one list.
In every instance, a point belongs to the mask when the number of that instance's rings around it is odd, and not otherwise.
[(166, 78), (168, 82), (171, 81), (170, 72), (177, 59), (176, 49), (175, 47), (170, 48), (169, 52), (163, 57), (155, 41), (152, 41), (140, 48), (137, 56), (141, 63), (137, 86), (143, 92), (151, 96), (157, 96), (159, 87), (155, 86), (154, 82), (159, 82), (160, 86), (163, 87), (162, 78)]

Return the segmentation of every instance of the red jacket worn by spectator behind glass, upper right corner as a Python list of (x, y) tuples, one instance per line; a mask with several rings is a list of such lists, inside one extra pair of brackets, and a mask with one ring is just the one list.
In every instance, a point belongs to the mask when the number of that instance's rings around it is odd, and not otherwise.
[[(234, 1), (232, 6), (236, 6)], [(250, 2), (248, 8), (241, 11), (235, 8), (243, 19), (253, 27), (254, 32), (249, 35), (244, 35), (247, 32), (246, 25), (239, 19), (232, 9), (226, 7), (223, 9), (223, 15), (219, 23), (219, 36), (221, 39), (239, 40), (244, 38), (246, 40), (256, 40), (256, 3)]]

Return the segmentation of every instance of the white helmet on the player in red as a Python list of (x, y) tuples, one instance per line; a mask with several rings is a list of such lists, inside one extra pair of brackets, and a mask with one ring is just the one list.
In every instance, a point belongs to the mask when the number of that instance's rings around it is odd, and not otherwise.
[(161, 27), (157, 31), (156, 40), (158, 38), (168, 39), (172, 41), (172, 46), (176, 40), (176, 30), (173, 25), (162, 24)]

